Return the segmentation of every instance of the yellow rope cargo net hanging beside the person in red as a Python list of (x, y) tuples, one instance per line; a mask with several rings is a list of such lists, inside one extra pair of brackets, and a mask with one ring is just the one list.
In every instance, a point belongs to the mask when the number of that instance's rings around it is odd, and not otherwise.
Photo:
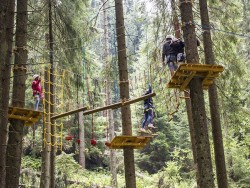
[[(43, 146), (60, 147), (62, 151), (62, 130), (63, 121), (61, 119), (51, 121), (51, 116), (56, 115), (59, 109), (64, 109), (64, 80), (66, 71), (64, 69), (50, 67), (44, 70), (43, 79)], [(53, 73), (52, 73), (53, 72)], [(51, 80), (53, 78), (53, 80)], [(53, 89), (52, 89), (53, 88)], [(53, 99), (52, 99), (53, 97)], [(52, 134), (51, 129), (54, 127), (55, 131)], [(54, 140), (52, 142), (52, 140)]]

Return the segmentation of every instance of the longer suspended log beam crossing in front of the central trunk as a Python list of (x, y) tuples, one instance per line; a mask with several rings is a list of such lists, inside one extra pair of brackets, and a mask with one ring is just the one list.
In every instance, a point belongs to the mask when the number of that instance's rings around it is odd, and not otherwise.
[(118, 102), (118, 103), (115, 103), (115, 104), (111, 104), (111, 105), (108, 105), (108, 106), (96, 108), (96, 109), (93, 109), (93, 110), (86, 110), (86, 111), (83, 112), (83, 115), (89, 115), (89, 114), (93, 114), (93, 113), (108, 110), (108, 109), (120, 108), (120, 107), (127, 106), (127, 105), (130, 105), (130, 104), (133, 104), (133, 103), (136, 103), (136, 102), (139, 102), (139, 101), (142, 101), (142, 100), (148, 99), (150, 97), (154, 97), (154, 96), (156, 96), (155, 93), (150, 93), (148, 95), (144, 95), (144, 96), (132, 99), (132, 100), (127, 100), (125, 102)]

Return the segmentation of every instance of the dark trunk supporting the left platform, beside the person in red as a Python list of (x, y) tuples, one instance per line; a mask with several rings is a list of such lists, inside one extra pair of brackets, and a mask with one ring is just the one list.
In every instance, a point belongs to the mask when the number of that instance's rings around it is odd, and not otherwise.
[[(25, 106), (25, 81), (27, 54), (27, 0), (17, 1), (16, 15), (16, 49), (14, 62), (14, 80), (12, 105), (23, 108)], [(11, 120), (9, 128), (9, 140), (6, 156), (6, 187), (18, 187), (24, 121)]]

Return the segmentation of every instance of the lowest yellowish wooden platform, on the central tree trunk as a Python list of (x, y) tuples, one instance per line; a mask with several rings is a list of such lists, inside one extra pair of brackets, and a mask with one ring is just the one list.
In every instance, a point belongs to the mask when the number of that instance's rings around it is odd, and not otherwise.
[(116, 136), (105, 145), (109, 149), (143, 149), (153, 136)]

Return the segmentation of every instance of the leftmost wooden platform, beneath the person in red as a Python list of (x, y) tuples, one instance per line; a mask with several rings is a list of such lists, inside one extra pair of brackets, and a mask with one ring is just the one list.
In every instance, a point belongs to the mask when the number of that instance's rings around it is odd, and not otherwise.
[(43, 112), (32, 109), (9, 107), (8, 118), (25, 121), (24, 125), (33, 125), (42, 116)]

